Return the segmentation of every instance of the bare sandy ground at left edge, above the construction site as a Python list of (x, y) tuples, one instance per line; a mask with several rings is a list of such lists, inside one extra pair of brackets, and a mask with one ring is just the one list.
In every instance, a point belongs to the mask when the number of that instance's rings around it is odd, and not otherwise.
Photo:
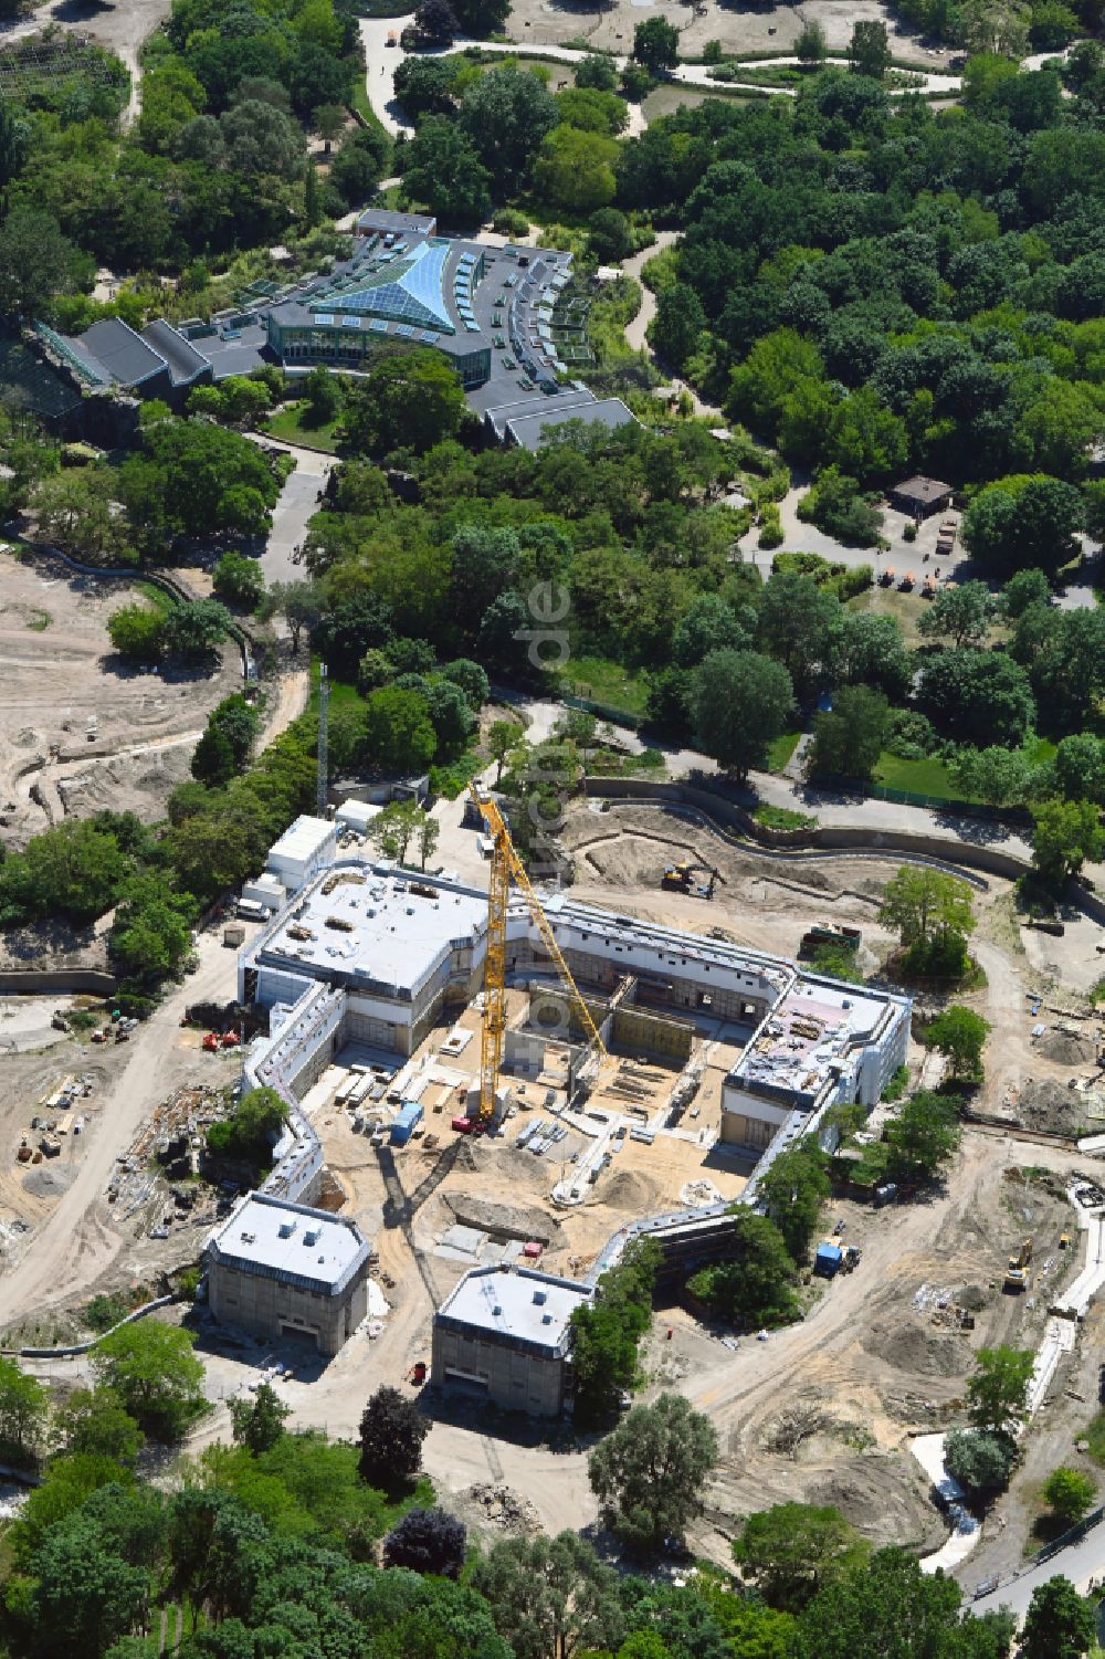
[(7, 846), (101, 808), (158, 818), (207, 712), (241, 685), (237, 647), (216, 672), (139, 672), (106, 620), (128, 582), (0, 559), (0, 826)]

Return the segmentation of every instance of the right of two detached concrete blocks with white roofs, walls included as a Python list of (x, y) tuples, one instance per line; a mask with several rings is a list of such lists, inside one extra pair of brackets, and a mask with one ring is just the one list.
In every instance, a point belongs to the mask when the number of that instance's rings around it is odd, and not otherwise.
[(571, 1397), (569, 1321), (592, 1296), (592, 1286), (577, 1279), (473, 1267), (433, 1321), (433, 1380), (559, 1417)]

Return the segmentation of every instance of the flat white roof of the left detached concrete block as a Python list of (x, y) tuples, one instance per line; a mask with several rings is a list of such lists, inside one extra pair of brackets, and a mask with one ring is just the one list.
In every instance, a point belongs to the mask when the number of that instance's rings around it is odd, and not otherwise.
[(211, 1234), (207, 1251), (242, 1272), (333, 1296), (368, 1256), (368, 1241), (355, 1221), (249, 1193)]

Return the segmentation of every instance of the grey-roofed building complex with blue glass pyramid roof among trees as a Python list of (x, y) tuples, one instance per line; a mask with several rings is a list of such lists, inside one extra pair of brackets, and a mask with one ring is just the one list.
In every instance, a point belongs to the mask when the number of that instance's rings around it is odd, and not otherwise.
[(538, 448), (546, 426), (567, 420), (607, 430), (634, 421), (621, 398), (596, 398), (567, 378), (591, 360), (584, 324), (571, 254), (441, 237), (431, 217), (370, 209), (350, 259), (284, 289), (259, 284), (247, 304), (211, 322), (156, 319), (136, 333), (110, 317), (81, 335), (45, 324), (35, 332), (81, 392), (178, 406), (192, 387), (265, 362), (358, 373), (382, 352), (430, 347), (450, 358), (499, 441)]

